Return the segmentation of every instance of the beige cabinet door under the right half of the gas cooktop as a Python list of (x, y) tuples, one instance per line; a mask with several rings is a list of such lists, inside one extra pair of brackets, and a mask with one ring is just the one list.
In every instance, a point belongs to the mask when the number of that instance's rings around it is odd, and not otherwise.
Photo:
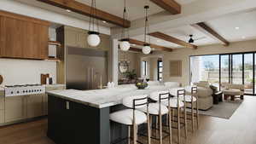
[(43, 115), (43, 95), (27, 95), (27, 118)]

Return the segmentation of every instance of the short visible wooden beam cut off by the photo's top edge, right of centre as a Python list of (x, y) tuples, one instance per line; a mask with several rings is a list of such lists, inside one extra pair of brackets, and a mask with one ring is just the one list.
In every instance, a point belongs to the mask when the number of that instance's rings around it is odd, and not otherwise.
[(174, 0), (150, 0), (171, 14), (181, 14), (181, 5)]

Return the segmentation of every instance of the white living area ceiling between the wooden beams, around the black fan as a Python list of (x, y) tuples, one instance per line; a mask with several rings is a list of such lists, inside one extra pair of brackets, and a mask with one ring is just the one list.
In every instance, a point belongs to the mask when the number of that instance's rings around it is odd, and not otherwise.
[[(241, 14), (225, 15), (215, 20), (209, 20), (206, 23), (229, 42), (245, 41), (256, 39), (255, 15), (256, 10), (253, 10)], [(239, 29), (236, 30), (236, 27), (239, 27)], [(189, 41), (189, 34), (193, 34), (193, 38), (195, 39), (194, 44), (198, 46), (219, 43), (217, 40), (213, 39), (212, 37), (208, 37), (206, 34), (195, 29), (193, 26), (180, 26), (160, 32), (166, 33), (172, 37), (177, 37), (178, 39), (181, 39), (185, 42)], [(143, 41), (143, 35), (132, 38)], [(169, 48), (183, 48), (182, 46), (175, 43), (169, 43), (155, 37), (151, 37), (150, 41), (151, 43)]]

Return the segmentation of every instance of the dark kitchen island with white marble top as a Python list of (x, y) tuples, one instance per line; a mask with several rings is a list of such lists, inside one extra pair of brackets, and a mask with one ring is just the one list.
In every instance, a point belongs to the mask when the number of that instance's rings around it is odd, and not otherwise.
[(134, 85), (82, 91), (53, 90), (49, 95), (48, 136), (56, 144), (110, 144), (127, 137), (128, 129), (110, 123), (109, 113), (122, 109), (125, 96), (148, 95), (166, 86), (137, 89)]

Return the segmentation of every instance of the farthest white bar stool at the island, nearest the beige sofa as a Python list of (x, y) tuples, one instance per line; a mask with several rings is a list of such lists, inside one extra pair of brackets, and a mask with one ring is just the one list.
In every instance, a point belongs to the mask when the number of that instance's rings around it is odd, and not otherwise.
[(192, 132), (194, 132), (194, 123), (195, 123), (194, 118), (196, 118), (197, 130), (199, 128), (197, 87), (192, 86), (191, 89), (190, 89), (190, 87), (187, 87), (186, 92), (189, 92), (191, 95), (185, 95), (185, 99), (183, 99), (183, 102), (188, 103), (190, 105), (190, 107), (187, 107), (187, 108), (191, 109), (191, 114), (188, 113), (188, 115), (190, 115), (190, 119), (188, 118), (188, 120), (191, 120)]

